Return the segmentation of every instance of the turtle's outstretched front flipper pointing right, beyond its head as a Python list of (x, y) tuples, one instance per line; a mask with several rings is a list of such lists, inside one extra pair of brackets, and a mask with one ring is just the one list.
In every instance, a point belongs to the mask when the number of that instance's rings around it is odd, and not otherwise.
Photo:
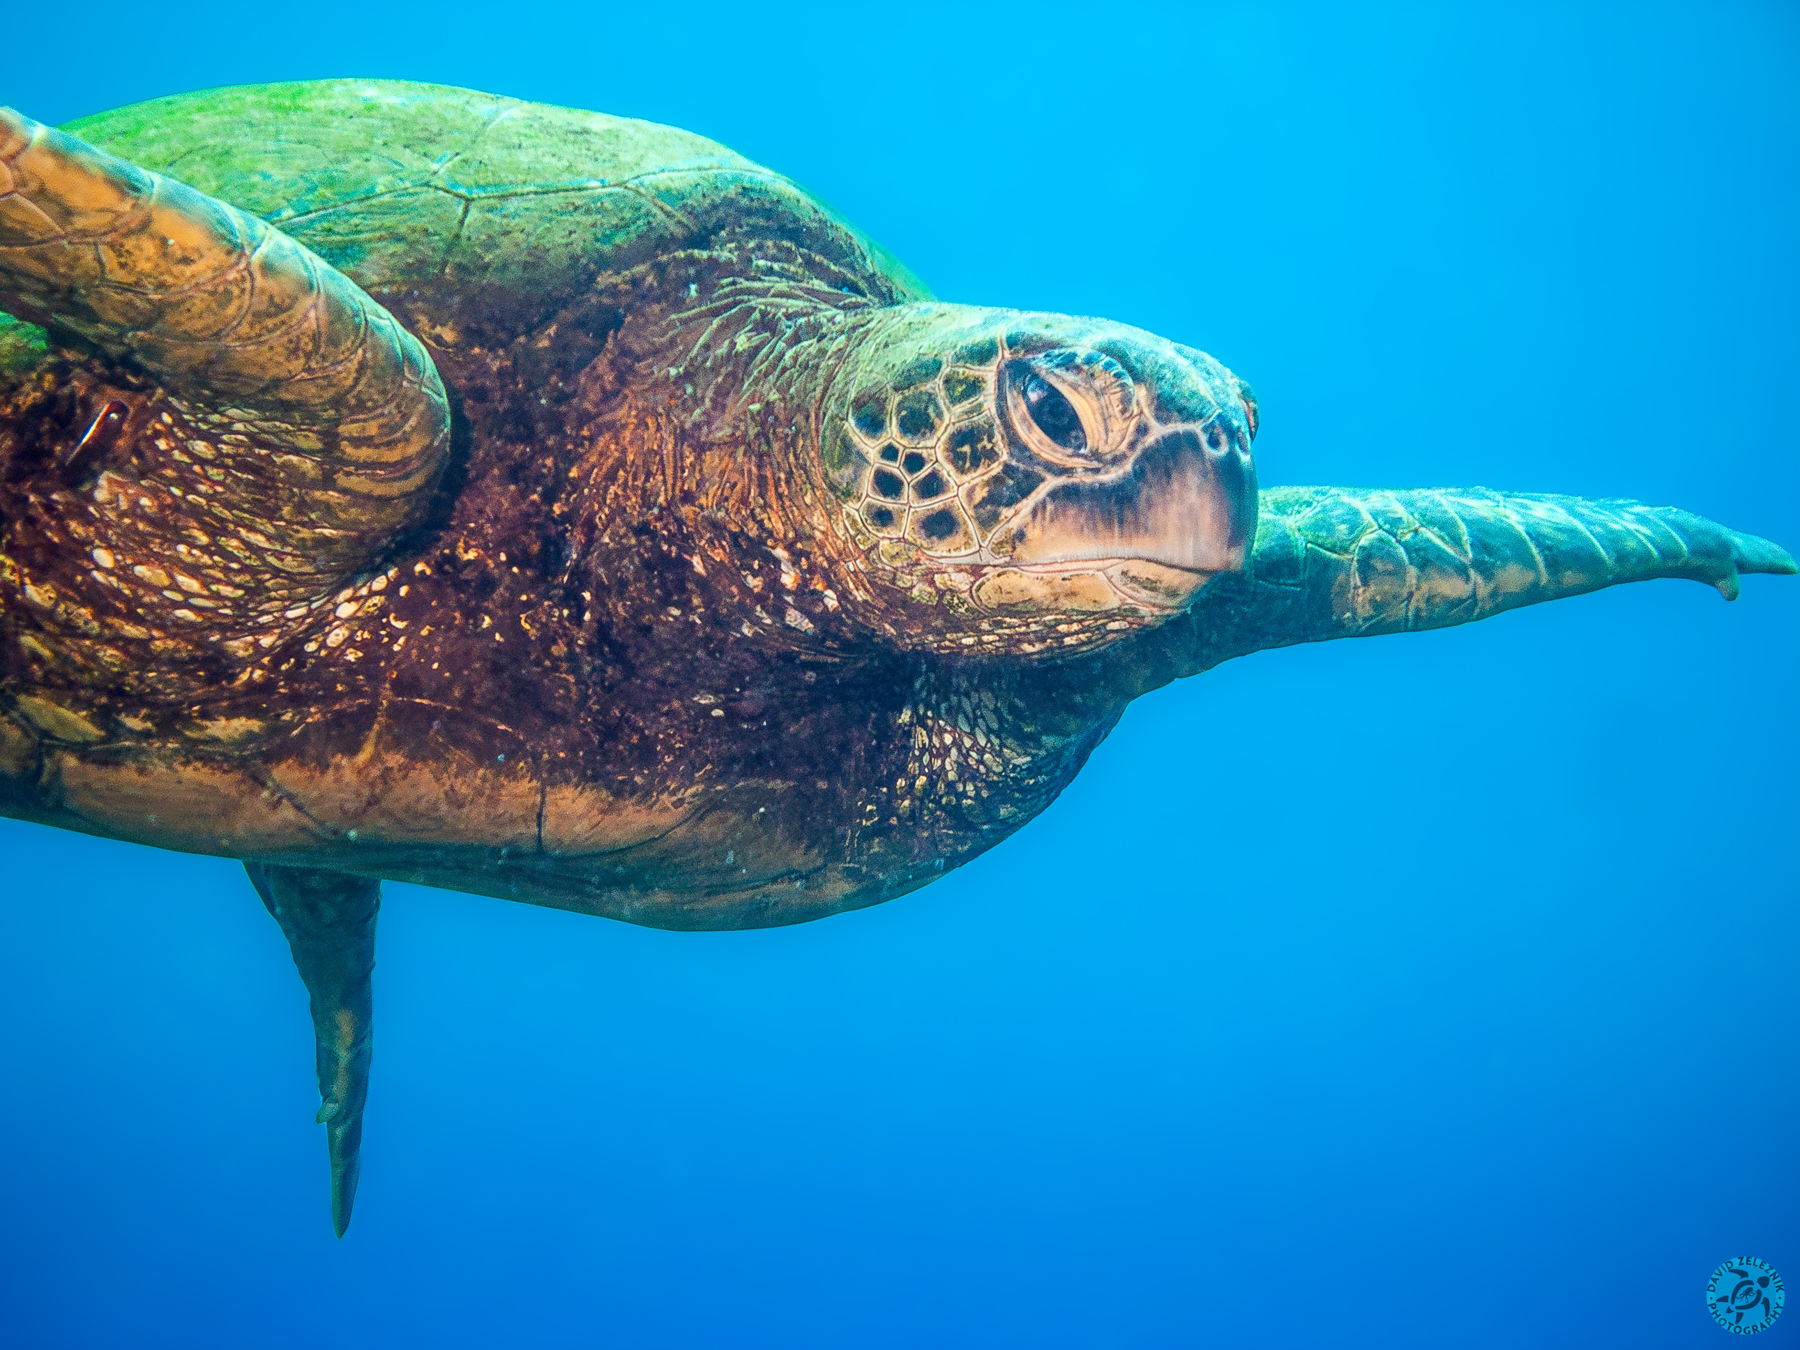
[(1737, 598), (1744, 572), (1795, 572), (1755, 535), (1672, 506), (1487, 488), (1273, 488), (1244, 576), (1202, 592), (1165, 653), (1192, 675), (1330, 637), (1449, 628), (1519, 605), (1661, 576)]

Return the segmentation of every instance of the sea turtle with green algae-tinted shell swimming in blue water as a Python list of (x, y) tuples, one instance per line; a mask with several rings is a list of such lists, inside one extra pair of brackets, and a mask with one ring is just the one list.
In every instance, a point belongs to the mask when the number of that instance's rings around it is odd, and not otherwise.
[(1229, 657), (1795, 571), (1627, 500), (1258, 493), (1193, 347), (940, 304), (722, 146), (434, 85), (0, 113), (0, 810), (245, 860), (338, 1233), (382, 878), (821, 918)]

